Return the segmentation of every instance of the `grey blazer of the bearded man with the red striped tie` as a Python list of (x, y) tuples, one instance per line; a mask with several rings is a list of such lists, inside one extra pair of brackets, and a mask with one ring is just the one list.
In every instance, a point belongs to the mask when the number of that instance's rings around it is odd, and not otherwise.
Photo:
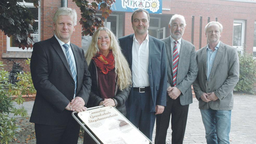
[[(172, 53), (170, 36), (162, 39), (162, 41), (165, 42), (167, 50), (167, 87), (169, 87), (172, 86)], [(183, 106), (193, 102), (191, 85), (196, 79), (197, 71), (195, 46), (190, 42), (181, 39), (176, 87), (181, 91), (180, 102)], [(170, 100), (170, 97), (167, 95), (167, 101), (168, 100)]]

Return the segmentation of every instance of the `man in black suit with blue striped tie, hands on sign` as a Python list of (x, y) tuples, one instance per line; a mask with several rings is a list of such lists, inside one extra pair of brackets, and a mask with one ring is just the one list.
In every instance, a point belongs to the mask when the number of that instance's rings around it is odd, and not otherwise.
[(78, 141), (80, 125), (71, 113), (86, 110), (91, 76), (84, 51), (70, 43), (76, 21), (75, 10), (59, 8), (54, 36), (33, 47), (30, 69), (37, 93), (30, 122), (35, 123), (36, 143)]

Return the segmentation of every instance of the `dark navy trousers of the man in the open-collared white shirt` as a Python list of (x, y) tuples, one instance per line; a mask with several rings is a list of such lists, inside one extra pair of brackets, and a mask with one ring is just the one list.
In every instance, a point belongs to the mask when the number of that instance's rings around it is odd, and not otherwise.
[(155, 124), (155, 112), (150, 112), (149, 104), (151, 99), (150, 91), (139, 93), (133, 91), (134, 103), (128, 103), (126, 107), (127, 119), (137, 127), (146, 137), (152, 141), (153, 128)]

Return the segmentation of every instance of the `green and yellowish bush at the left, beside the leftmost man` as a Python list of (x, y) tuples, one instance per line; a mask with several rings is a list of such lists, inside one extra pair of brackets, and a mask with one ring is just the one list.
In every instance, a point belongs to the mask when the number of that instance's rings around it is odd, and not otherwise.
[[(27, 63), (29, 64), (29, 60)], [(9, 83), (9, 73), (3, 69), (3, 62), (0, 61), (0, 143), (9, 143), (12, 141), (20, 128), (16, 125), (15, 119), (8, 116), (9, 113), (14, 115), (27, 116), (27, 110), (23, 106), (25, 99), (23, 95), (35, 94), (36, 90), (31, 80), (30, 72), (18, 74), (16, 84)], [(15, 95), (17, 98), (12, 99)], [(13, 102), (21, 104), (20, 108), (14, 108)]]

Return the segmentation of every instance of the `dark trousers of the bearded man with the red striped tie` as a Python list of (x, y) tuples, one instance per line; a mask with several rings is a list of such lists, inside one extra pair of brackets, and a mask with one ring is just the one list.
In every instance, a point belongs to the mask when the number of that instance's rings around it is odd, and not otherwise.
[(167, 130), (171, 116), (171, 143), (181, 144), (185, 134), (189, 104), (182, 106), (180, 97), (176, 100), (170, 99), (166, 103), (164, 112), (156, 116), (156, 137), (155, 144), (166, 142)]

